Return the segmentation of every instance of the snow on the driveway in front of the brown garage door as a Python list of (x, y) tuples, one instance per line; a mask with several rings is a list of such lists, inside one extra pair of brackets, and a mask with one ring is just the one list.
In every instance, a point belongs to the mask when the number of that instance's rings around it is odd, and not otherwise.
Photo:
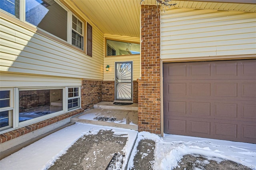
[[(142, 139), (156, 142), (154, 150), (156, 170), (171, 170), (178, 165), (186, 154), (201, 154), (209, 160), (221, 162), (220, 158), (232, 160), (256, 170), (256, 144), (164, 134), (161, 138), (149, 132), (139, 132), (134, 148)], [(133, 160), (136, 149), (132, 150), (130, 160)], [(128, 167), (133, 167), (129, 161)]]

